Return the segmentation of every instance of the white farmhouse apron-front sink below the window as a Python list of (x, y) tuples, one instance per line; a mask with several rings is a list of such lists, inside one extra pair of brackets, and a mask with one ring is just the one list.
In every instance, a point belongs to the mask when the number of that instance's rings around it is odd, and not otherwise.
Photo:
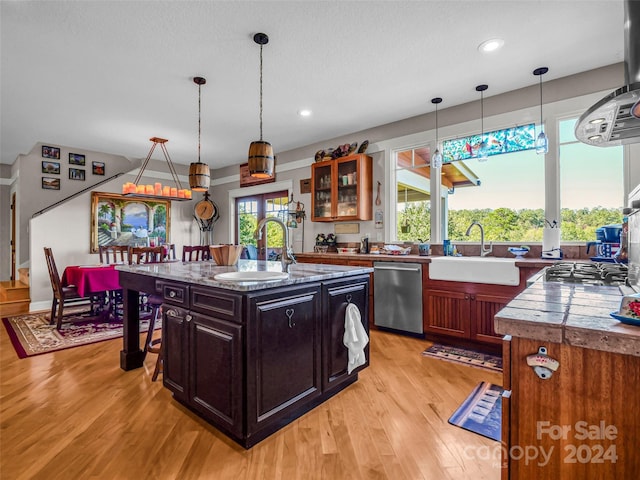
[(429, 278), (515, 286), (520, 284), (520, 269), (514, 258), (434, 257), (429, 264)]

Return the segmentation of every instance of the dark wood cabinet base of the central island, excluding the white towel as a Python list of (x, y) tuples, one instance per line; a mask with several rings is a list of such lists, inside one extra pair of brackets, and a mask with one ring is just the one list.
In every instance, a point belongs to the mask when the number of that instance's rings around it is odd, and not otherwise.
[[(164, 386), (244, 447), (355, 382), (368, 366), (347, 374), (343, 343), (348, 303), (367, 318), (366, 274), (243, 293), (162, 288)], [(368, 360), (368, 347), (365, 353)]]

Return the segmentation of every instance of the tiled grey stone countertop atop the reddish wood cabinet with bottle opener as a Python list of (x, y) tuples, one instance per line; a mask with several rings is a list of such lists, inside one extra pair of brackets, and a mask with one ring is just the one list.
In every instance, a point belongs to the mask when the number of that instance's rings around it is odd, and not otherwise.
[(545, 282), (538, 278), (495, 315), (496, 333), (640, 356), (640, 327), (609, 313), (620, 307), (617, 286)]

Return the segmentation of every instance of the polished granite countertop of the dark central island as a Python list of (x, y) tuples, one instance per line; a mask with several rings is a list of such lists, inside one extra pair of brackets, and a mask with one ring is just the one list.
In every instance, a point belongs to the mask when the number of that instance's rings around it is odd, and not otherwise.
[(279, 280), (261, 281), (219, 281), (214, 277), (225, 272), (282, 272), (282, 264), (262, 260), (238, 260), (233, 266), (216, 265), (211, 261), (204, 262), (167, 262), (146, 265), (118, 265), (116, 270), (137, 273), (164, 280), (176, 280), (207, 287), (224, 288), (235, 291), (264, 290), (267, 288), (296, 285), (300, 283), (318, 282), (322, 280), (343, 278), (352, 275), (369, 274), (370, 267), (351, 267), (346, 265), (317, 265), (297, 263), (289, 266), (289, 277)]

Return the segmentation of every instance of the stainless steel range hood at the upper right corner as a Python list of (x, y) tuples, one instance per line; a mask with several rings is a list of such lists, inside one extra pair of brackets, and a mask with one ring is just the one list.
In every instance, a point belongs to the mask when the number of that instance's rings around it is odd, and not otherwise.
[(624, 3), (626, 85), (582, 114), (576, 138), (598, 147), (640, 143), (640, 1)]

